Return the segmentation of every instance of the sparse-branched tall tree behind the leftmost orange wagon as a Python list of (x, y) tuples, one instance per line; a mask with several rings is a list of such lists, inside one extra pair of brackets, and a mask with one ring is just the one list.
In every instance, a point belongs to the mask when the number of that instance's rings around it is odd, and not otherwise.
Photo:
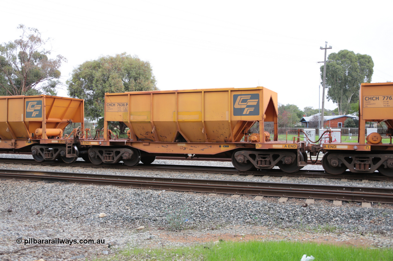
[(59, 68), (66, 59), (48, 58), (44, 46), (49, 39), (43, 40), (37, 29), (22, 24), (18, 29), (20, 39), (0, 45), (0, 95), (56, 95)]

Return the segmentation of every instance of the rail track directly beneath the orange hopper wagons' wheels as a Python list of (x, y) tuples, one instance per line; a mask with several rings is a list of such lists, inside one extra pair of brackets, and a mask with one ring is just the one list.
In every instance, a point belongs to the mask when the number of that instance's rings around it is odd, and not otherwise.
[(333, 178), (333, 179), (369, 179), (377, 181), (393, 181), (393, 177), (380, 176), (376, 174), (353, 175), (350, 171), (346, 171), (341, 175), (328, 174), (323, 170), (299, 170), (295, 173), (285, 173), (279, 169), (272, 170), (256, 170), (241, 172), (234, 167), (216, 167), (216, 166), (195, 166), (195, 165), (167, 165), (167, 164), (139, 164), (134, 167), (128, 167), (123, 163), (110, 165), (94, 165), (86, 161), (75, 161), (75, 163), (64, 163), (60, 160), (37, 162), (33, 159), (19, 158), (0, 158), (0, 163), (8, 164), (26, 164), (26, 165), (49, 165), (49, 166), (66, 166), (66, 167), (92, 167), (106, 169), (130, 169), (130, 170), (161, 170), (161, 171), (184, 171), (184, 172), (204, 172), (212, 174), (238, 174), (238, 175), (254, 175), (254, 176), (287, 176), (287, 177), (303, 177), (303, 178)]

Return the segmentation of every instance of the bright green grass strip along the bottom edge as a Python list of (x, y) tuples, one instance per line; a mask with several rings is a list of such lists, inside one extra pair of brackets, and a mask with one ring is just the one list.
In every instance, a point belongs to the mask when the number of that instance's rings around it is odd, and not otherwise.
[(336, 246), (300, 242), (220, 242), (176, 249), (130, 249), (110, 260), (272, 260), (300, 261), (302, 256), (315, 257), (314, 261), (384, 261), (393, 260), (391, 249), (370, 249), (354, 246)]

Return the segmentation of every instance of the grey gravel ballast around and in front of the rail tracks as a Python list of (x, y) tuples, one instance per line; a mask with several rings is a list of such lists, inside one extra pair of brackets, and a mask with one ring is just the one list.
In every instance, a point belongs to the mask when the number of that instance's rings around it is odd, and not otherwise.
[[(182, 164), (187, 164), (187, 162), (189, 161), (181, 161)], [(203, 164), (222, 163), (204, 162)], [(233, 177), (233, 175), (206, 173), (73, 167), (59, 169), (59, 167), (52, 166), (13, 164), (0, 164), (0, 168), (392, 187), (392, 183), (386, 181), (349, 180), (344, 182), (322, 178)], [(391, 246), (393, 210), (391, 205), (386, 204), (373, 203), (372, 208), (362, 208), (360, 203), (343, 202), (342, 206), (334, 206), (332, 201), (327, 200), (316, 200), (314, 204), (306, 204), (305, 199), (289, 199), (287, 202), (279, 203), (278, 198), (268, 197), (255, 200), (252, 196), (232, 198), (231, 195), (226, 194), (185, 193), (43, 181), (1, 180), (0, 187), (2, 193), (0, 198), (0, 259), (4, 257), (4, 260), (7, 258), (35, 260), (32, 258), (41, 257), (45, 260), (67, 260), (81, 255), (92, 259), (105, 256), (107, 254), (105, 251), (108, 249), (110, 249), (108, 254), (111, 254), (125, 246), (189, 245), (189, 241), (167, 240), (163, 234), (179, 235), (187, 231), (187, 234), (200, 238), (206, 234), (207, 230), (214, 230), (214, 233), (221, 235), (240, 233), (259, 235), (261, 238), (274, 234), (278, 235), (277, 240), (297, 240), (297, 238), (312, 234), (313, 237), (334, 237), (334, 241), (337, 238), (342, 241), (345, 235), (346, 239), (356, 238), (359, 242), (362, 238), (362, 242), (367, 241), (370, 246)], [(101, 213), (105, 213), (106, 216), (99, 217)], [(175, 224), (173, 221), (169, 222), (168, 217), (178, 218), (180, 223), (184, 224), (182, 228), (187, 228), (187, 230), (170, 232)], [(183, 221), (185, 222), (182, 223)], [(136, 230), (142, 226), (144, 228)], [(191, 237), (190, 235), (188, 238)], [(21, 244), (16, 243), (18, 238), (22, 240)], [(54, 248), (50, 250), (30, 248), (9, 253), (32, 246), (33, 244), (24, 245), (24, 240), (29, 238), (105, 239), (105, 244), (54, 244), (51, 246), (62, 247), (56, 250)], [(211, 238), (213, 239), (214, 236)], [(197, 242), (201, 241), (195, 241)], [(109, 243), (112, 248), (108, 248)]]

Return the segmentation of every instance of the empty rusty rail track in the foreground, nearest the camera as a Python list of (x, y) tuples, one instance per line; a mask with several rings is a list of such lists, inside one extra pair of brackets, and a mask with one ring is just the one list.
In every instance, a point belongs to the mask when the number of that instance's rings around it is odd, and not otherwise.
[(116, 185), (130, 188), (393, 203), (393, 188), (157, 178), (28, 170), (0, 170), (1, 179)]

